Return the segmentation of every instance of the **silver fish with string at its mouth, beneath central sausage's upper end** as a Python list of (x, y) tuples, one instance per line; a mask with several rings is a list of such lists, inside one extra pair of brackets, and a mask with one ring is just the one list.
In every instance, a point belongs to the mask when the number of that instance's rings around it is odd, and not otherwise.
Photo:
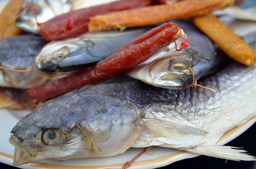
[[(191, 68), (198, 80), (214, 63), (215, 50), (209, 38), (185, 20), (174, 23), (184, 30), (189, 45), (181, 51), (175, 50), (175, 43), (155, 54), (145, 62), (131, 69), (127, 74), (153, 86), (173, 90), (186, 89), (193, 81)], [(183, 42), (178, 39), (177, 44)]]

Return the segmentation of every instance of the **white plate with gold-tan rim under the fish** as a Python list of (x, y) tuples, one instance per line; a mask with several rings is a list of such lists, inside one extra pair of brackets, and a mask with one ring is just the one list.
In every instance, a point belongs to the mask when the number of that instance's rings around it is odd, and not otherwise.
[[(21, 116), (25, 116), (29, 112), (26, 110), (0, 110), (0, 162), (12, 165), (14, 146), (9, 143), (9, 137), (11, 136), (11, 130), (15, 124), (20, 120)], [(253, 123), (256, 122), (256, 117), (247, 121), (241, 126), (238, 126), (229, 132), (225, 133), (221, 137), (218, 145), (224, 145), (234, 138), (238, 137), (247, 130)], [(26, 164), (20, 166), (23, 169), (106, 169), (106, 168), (121, 168), (123, 163), (127, 160), (131, 160), (139, 154), (143, 149), (131, 148), (121, 155), (116, 155), (109, 158), (84, 158), (74, 159), (67, 161), (50, 162), (44, 161), (36, 162), (33, 164)], [(131, 169), (154, 169), (162, 166), (166, 166), (175, 161), (183, 160), (186, 158), (197, 157), (198, 155), (183, 152), (176, 149), (156, 147), (152, 155), (143, 154), (131, 165)]]

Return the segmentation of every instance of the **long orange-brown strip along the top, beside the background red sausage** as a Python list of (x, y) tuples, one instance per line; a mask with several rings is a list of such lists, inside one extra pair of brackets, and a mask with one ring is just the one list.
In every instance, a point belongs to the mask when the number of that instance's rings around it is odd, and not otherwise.
[(172, 19), (184, 19), (210, 14), (224, 9), (234, 0), (183, 0), (171, 5), (148, 6), (113, 12), (90, 18), (89, 31), (148, 26)]

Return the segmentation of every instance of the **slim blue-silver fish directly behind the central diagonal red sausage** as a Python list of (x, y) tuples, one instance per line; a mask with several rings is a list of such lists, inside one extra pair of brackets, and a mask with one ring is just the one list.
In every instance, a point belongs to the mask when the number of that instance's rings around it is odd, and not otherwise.
[(37, 67), (43, 72), (70, 72), (83, 69), (116, 52), (129, 41), (150, 30), (151, 27), (126, 29), (125, 31), (88, 32), (79, 37), (48, 43), (35, 58), (39, 61), (51, 58)]

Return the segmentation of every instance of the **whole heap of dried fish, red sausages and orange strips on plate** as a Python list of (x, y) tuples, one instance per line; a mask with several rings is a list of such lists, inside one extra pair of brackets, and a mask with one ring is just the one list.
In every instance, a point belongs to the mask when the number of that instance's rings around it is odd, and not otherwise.
[[(12, 129), (14, 165), (148, 146), (255, 160), (216, 146), (256, 116), (256, 30), (237, 34), (212, 14), (235, 1), (109, 2), (11, 0), (3, 9), (0, 22), (16, 13), (0, 28), (0, 100), (12, 109), (47, 101)], [(133, 78), (109, 80), (119, 74)]]

